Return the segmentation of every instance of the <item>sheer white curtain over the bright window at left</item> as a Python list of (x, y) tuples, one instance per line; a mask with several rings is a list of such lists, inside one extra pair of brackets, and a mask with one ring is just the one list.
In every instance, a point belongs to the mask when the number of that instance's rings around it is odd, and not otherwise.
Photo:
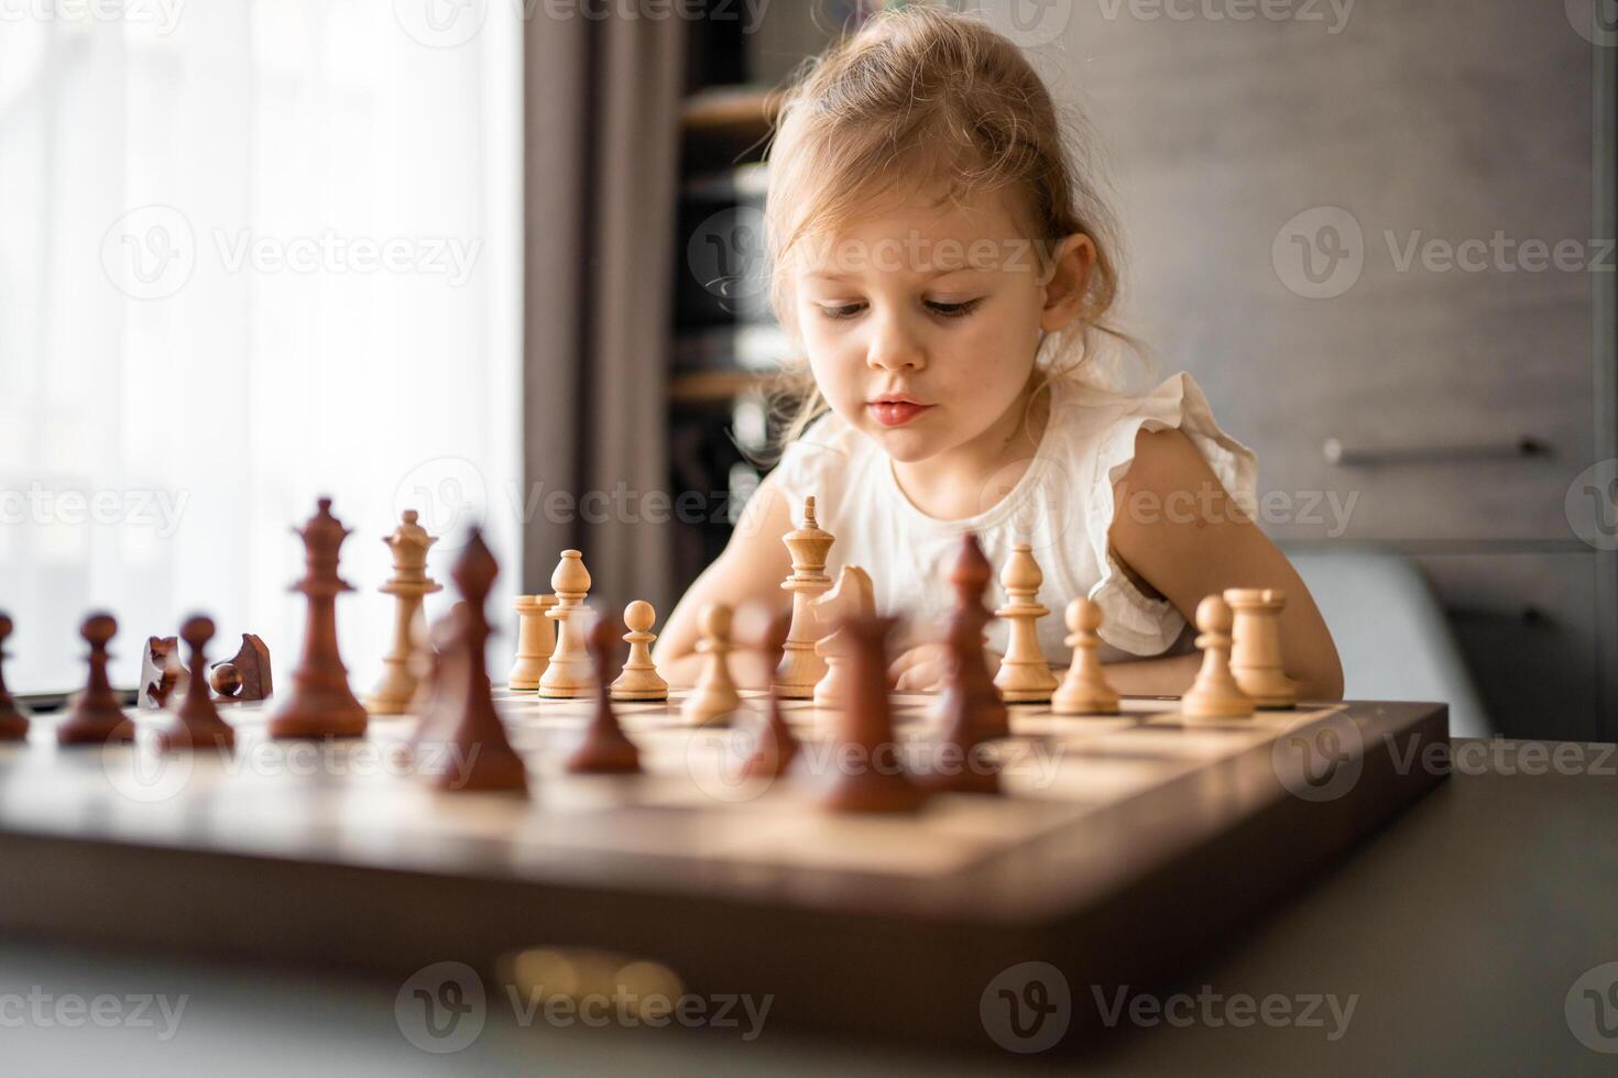
[[(129, 0), (0, 10), (0, 609), (13, 688), (83, 677), (78, 624), (191, 611), (301, 642), (301, 524), (354, 528), (356, 687), (390, 625), (379, 541), (485, 524), (516, 588), (516, 5)], [(419, 6), (421, 11), (413, 10)], [(453, 5), (450, 15), (456, 11)], [(438, 13), (443, 15), (443, 13)], [(519, 501), (518, 501), (519, 504)]]

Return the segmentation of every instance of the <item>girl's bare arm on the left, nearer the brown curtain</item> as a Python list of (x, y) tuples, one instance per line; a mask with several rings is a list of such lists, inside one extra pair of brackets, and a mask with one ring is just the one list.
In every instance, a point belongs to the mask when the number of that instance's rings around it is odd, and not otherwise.
[[(702, 656), (696, 648), (697, 619), (704, 606), (769, 603), (781, 611), (791, 609), (791, 595), (781, 590), (781, 580), (793, 571), (791, 554), (781, 543), (781, 537), (793, 530), (791, 506), (773, 480), (772, 472), (759, 483), (725, 553), (702, 571), (663, 622), (654, 658), (659, 672), (676, 688), (696, 684), (702, 669)], [(738, 684), (757, 688), (769, 684), (770, 671), (756, 651), (738, 650), (731, 655), (731, 674)]]

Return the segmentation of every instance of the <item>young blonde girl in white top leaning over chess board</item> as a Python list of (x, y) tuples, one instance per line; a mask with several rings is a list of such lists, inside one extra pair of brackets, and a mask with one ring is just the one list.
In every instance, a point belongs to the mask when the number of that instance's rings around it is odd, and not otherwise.
[[(880, 15), (798, 81), (769, 160), (773, 304), (812, 385), (780, 465), (668, 617), (657, 658), (671, 684), (696, 677), (704, 604), (790, 606), (781, 537), (812, 495), (837, 537), (828, 574), (866, 569), (877, 609), (906, 616), (900, 690), (945, 674), (947, 574), (976, 532), (997, 571), (1013, 543), (1034, 548), (1053, 667), (1069, 656), (1061, 613), (1084, 595), (1105, 614), (1113, 687), (1183, 693), (1197, 603), (1275, 587), (1299, 695), (1341, 697), (1314, 600), (1243, 512), (1252, 453), (1189, 375), (1144, 396), (1102, 388), (1099, 347), (1128, 343), (1107, 322), (1112, 229), (1016, 45), (937, 8)], [(1005, 640), (997, 619), (990, 650)]]

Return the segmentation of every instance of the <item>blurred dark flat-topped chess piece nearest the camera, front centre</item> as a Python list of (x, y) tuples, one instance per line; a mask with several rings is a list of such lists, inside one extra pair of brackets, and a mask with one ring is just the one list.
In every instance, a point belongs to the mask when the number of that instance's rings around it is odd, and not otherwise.
[(885, 642), (893, 619), (854, 616), (833, 624), (848, 642), (848, 695), (837, 716), (837, 774), (822, 805), (843, 813), (916, 811), (927, 792), (904, 773), (888, 708)]

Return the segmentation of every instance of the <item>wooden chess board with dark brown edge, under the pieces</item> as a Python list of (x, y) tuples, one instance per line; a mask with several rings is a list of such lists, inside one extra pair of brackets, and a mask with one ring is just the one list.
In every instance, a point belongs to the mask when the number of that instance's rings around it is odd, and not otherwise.
[[(1048, 962), (1076, 992), (1171, 975), (1438, 782), (1413, 761), (1448, 739), (1442, 705), (1023, 705), (992, 748), (1003, 795), (851, 816), (817, 806), (840, 764), (807, 701), (785, 705), (799, 769), (762, 782), (738, 777), (756, 698), (718, 729), (684, 726), (680, 693), (620, 705), (641, 776), (563, 773), (589, 701), (497, 705), (526, 798), (429, 789), (409, 716), (272, 742), (267, 705), (225, 705), (228, 760), (157, 753), (154, 713), (131, 711), (134, 745), (87, 750), (42, 716), (0, 745), (0, 924), (396, 978), (587, 949), (688, 992), (769, 994), (772, 1025), (982, 1044), (1002, 970)], [(930, 698), (893, 705), (924, 760)]]

